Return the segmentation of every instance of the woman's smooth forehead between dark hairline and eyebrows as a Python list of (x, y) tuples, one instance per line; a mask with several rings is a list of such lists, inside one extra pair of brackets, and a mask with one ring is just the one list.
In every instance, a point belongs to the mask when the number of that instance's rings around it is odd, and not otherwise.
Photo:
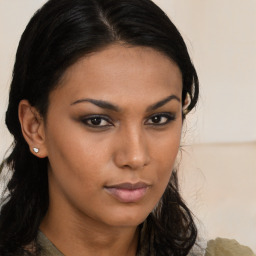
[(152, 48), (111, 45), (68, 68), (57, 91), (70, 100), (93, 96), (122, 103), (145, 97), (154, 101), (179, 96), (182, 75), (169, 57)]

